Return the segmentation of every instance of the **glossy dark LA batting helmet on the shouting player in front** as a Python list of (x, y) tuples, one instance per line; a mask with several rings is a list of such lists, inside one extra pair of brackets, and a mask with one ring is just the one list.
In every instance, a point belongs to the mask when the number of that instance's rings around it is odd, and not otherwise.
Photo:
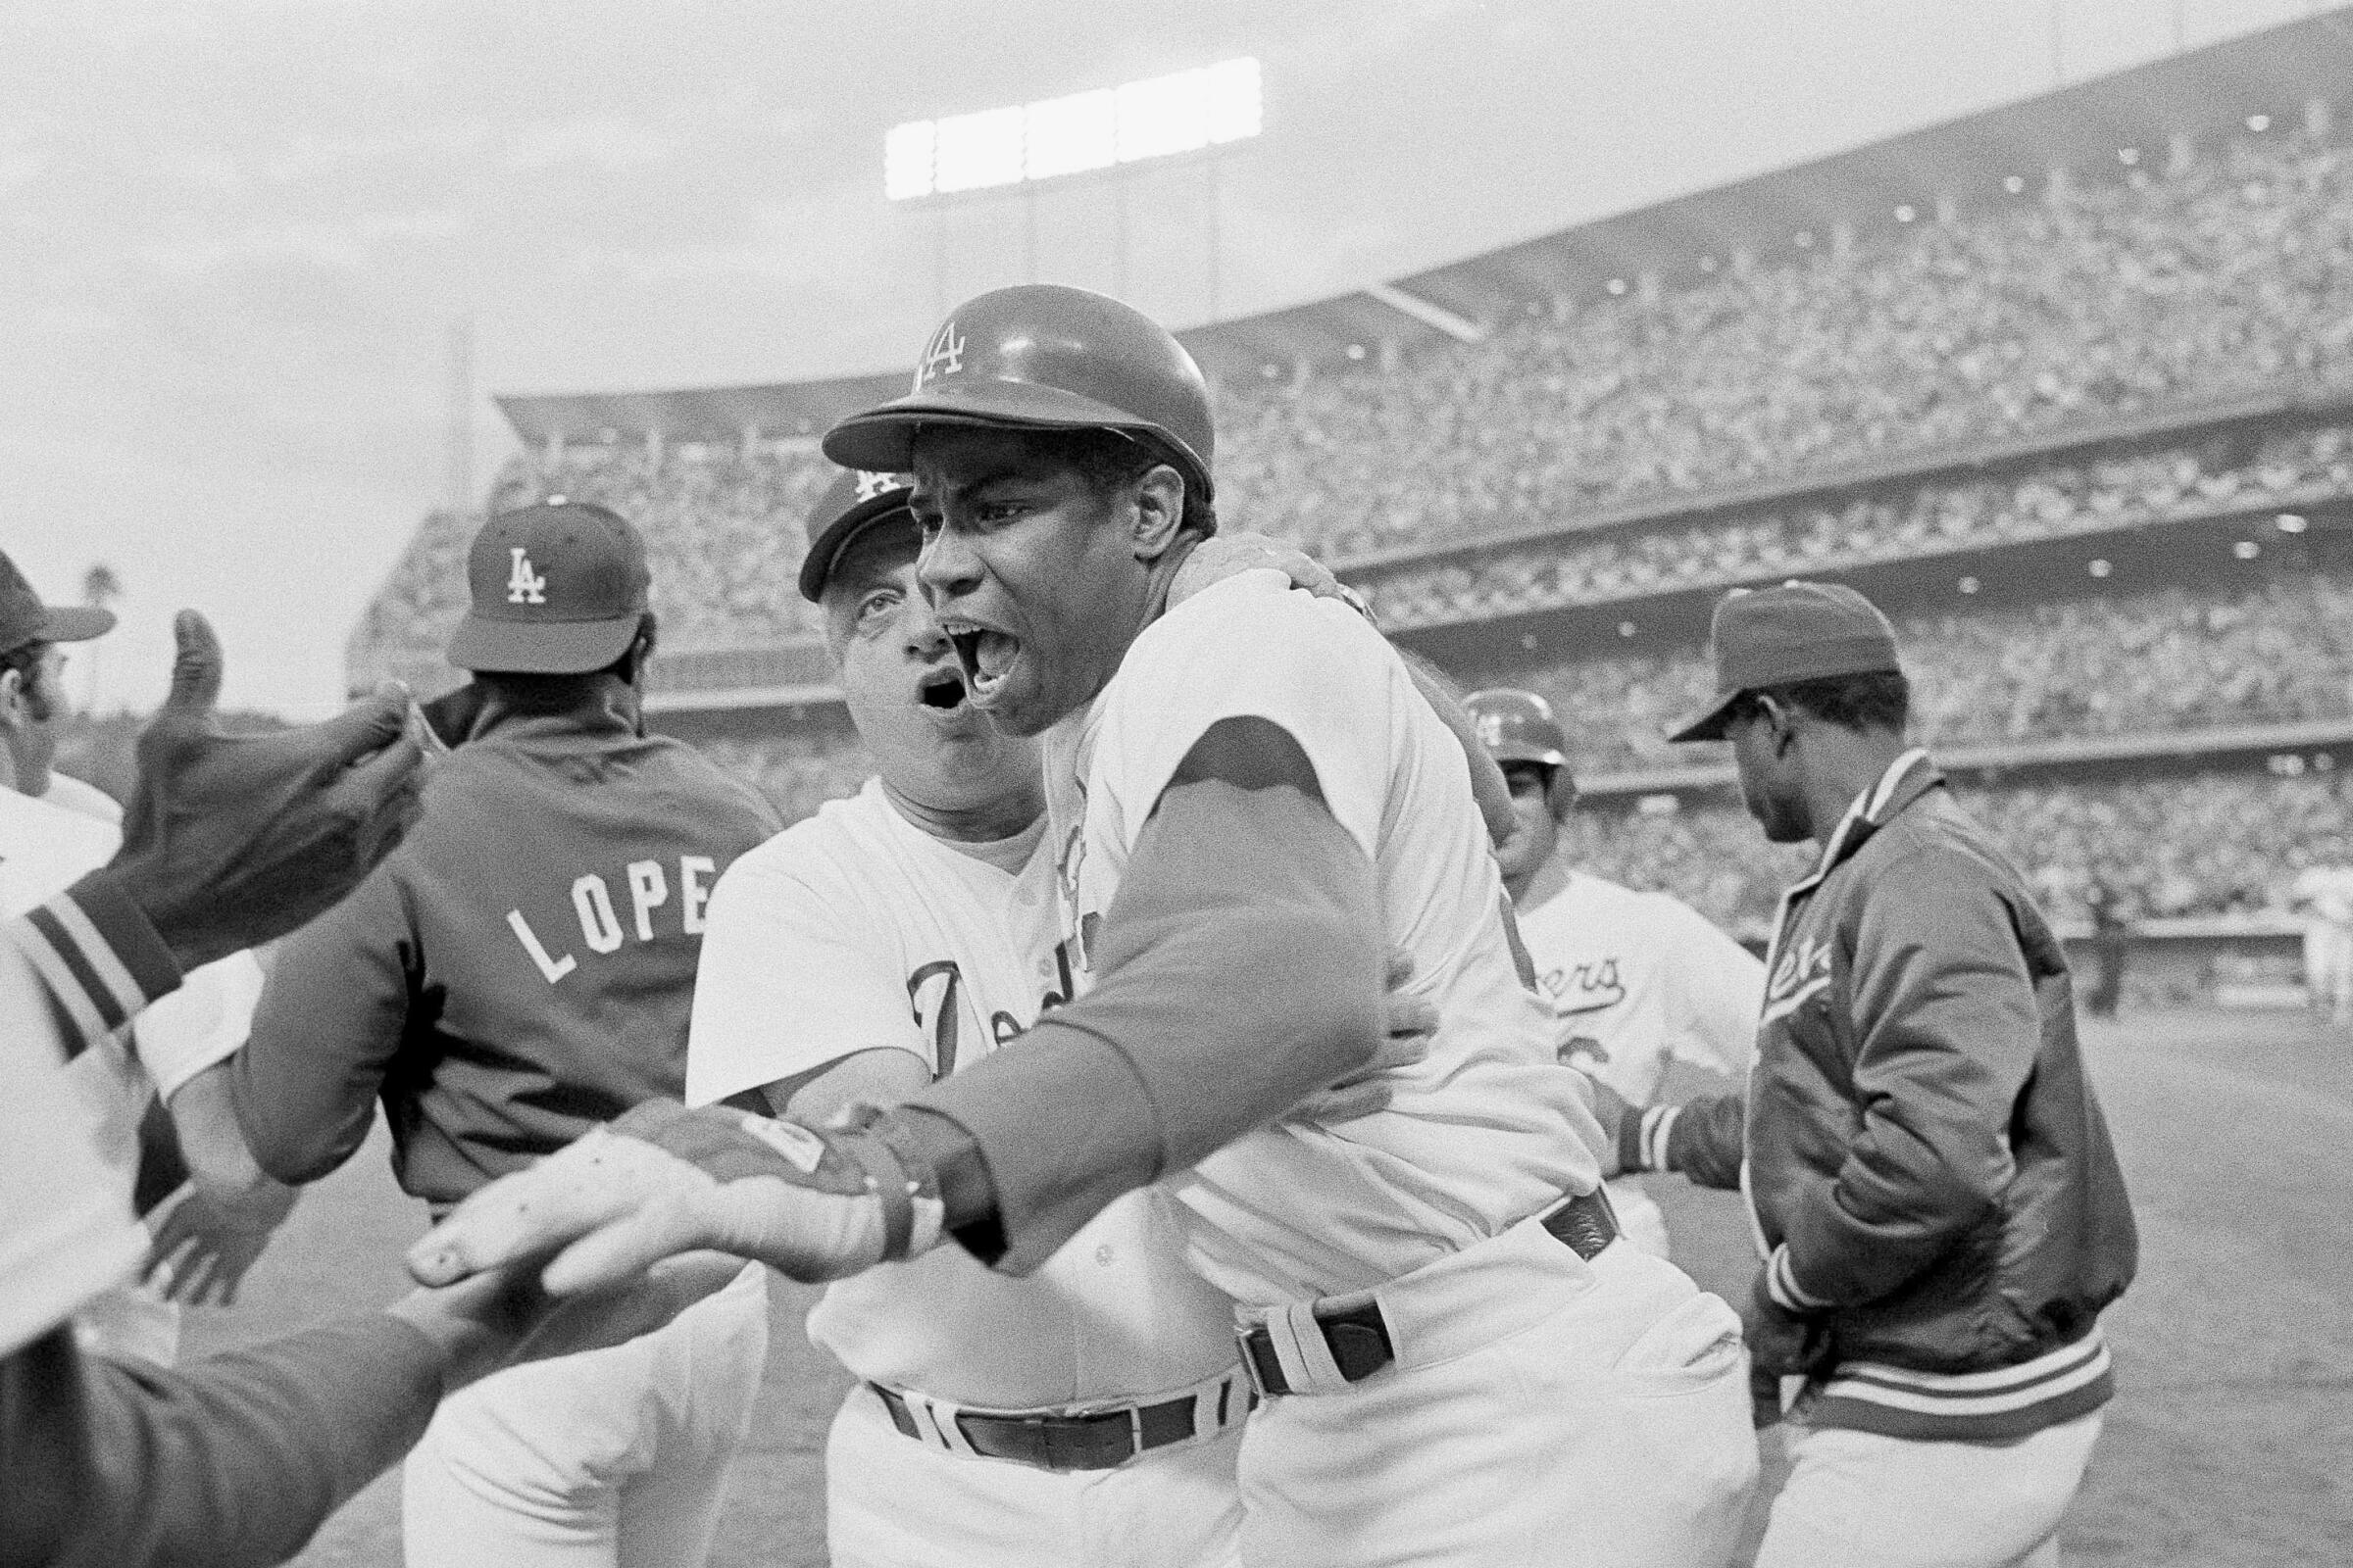
[(1031, 282), (967, 299), (915, 367), (915, 388), (826, 430), (845, 468), (904, 473), (918, 425), (1125, 430), (1160, 442), (1212, 498), (1209, 386), (1160, 322), (1104, 294)]

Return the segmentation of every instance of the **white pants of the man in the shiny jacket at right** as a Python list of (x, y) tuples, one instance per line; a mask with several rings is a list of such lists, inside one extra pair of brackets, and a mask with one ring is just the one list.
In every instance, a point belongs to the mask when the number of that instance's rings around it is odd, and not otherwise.
[(2101, 1413), (2014, 1443), (1788, 1429), (1755, 1568), (2059, 1568), (2059, 1521)]

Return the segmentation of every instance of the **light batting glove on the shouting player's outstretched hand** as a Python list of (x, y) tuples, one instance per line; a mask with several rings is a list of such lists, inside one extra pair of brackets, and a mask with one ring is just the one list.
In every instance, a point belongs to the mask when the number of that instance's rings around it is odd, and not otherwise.
[(468, 1197), (409, 1248), (409, 1274), (445, 1286), (548, 1260), (541, 1284), (576, 1295), (708, 1248), (816, 1284), (929, 1251), (941, 1220), (936, 1178), (885, 1112), (809, 1128), (649, 1100)]

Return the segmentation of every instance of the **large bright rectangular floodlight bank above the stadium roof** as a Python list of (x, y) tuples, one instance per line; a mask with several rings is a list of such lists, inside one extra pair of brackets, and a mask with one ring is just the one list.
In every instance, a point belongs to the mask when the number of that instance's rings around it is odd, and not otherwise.
[(1257, 136), (1261, 125), (1259, 61), (1228, 59), (1016, 108), (894, 125), (882, 139), (882, 195), (906, 202), (1200, 153)]

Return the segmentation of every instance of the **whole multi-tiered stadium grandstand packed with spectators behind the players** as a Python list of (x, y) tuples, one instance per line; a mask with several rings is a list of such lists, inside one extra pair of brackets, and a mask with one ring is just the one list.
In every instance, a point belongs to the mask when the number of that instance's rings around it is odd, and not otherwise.
[[(1727, 588), (1849, 581), (1918, 733), (2064, 922), (2151, 983), (2292, 978), (2287, 884), (2353, 863), (2353, 45), (2320, 16), (1181, 334), (1228, 527), (1577, 736), (1588, 858), (1755, 933), (1800, 860), (1668, 748)], [(654, 719), (788, 813), (864, 757), (793, 592), (814, 437), (904, 376), (501, 397), (487, 505), (654, 548)], [(475, 520), (428, 517), (351, 682), (454, 679)]]

